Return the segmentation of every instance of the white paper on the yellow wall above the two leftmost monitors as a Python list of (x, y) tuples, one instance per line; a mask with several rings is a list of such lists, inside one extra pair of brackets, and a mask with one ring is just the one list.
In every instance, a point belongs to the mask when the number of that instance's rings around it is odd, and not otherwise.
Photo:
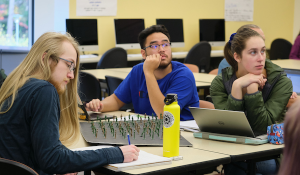
[(117, 0), (76, 0), (77, 16), (116, 16)]

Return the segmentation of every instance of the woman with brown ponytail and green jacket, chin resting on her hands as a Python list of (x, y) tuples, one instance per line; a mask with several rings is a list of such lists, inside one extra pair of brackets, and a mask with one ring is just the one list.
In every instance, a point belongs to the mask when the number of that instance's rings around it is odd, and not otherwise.
[[(244, 111), (254, 132), (264, 133), (267, 126), (283, 120), (293, 92), (290, 79), (282, 68), (266, 60), (265, 51), (260, 34), (249, 28), (238, 30), (224, 48), (231, 67), (223, 69), (210, 88), (216, 109)], [(267, 170), (271, 165), (263, 167)], [(225, 166), (225, 174), (241, 174), (232, 169), (226, 173)]]

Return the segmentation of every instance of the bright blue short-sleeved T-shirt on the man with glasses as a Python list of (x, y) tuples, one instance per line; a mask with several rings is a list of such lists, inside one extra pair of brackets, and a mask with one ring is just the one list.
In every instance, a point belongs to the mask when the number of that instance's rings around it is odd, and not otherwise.
[[(115, 90), (115, 95), (124, 103), (132, 103), (135, 113), (155, 114), (151, 107), (145, 74), (144, 63), (134, 66), (125, 80)], [(184, 64), (172, 61), (172, 72), (157, 80), (161, 93), (177, 94), (180, 106), (180, 120), (194, 120), (189, 106), (199, 107), (199, 96), (193, 73)]]

